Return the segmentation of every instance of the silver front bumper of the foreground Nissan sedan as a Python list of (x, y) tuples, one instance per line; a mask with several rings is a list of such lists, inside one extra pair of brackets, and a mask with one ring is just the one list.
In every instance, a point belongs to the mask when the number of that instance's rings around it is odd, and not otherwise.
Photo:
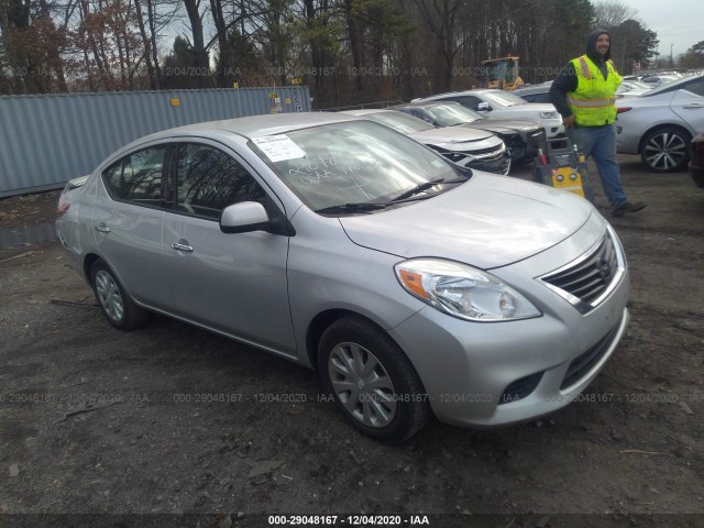
[[(540, 267), (560, 262), (559, 251), (546, 253)], [(544, 268), (531, 273), (529, 261), (496, 274), (509, 284), (512, 276), (540, 276)], [(495, 427), (550, 414), (574, 400), (614, 353), (628, 324), (627, 271), (586, 314), (534, 283), (522, 289), (542, 310), (539, 318), (480, 323), (427, 307), (392, 330), (440, 421)]]

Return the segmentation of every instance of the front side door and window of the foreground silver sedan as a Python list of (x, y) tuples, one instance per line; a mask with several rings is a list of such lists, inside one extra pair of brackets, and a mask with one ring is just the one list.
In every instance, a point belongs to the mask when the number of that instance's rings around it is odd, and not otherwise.
[(178, 316), (275, 351), (295, 353), (288, 306), (288, 237), (223, 233), (224, 207), (283, 207), (231, 150), (206, 140), (178, 144), (175, 210), (164, 218), (164, 275)]

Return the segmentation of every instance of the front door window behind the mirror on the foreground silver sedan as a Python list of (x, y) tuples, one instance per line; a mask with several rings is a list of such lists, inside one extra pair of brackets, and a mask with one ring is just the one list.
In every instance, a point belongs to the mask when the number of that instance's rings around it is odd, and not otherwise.
[(178, 146), (178, 210), (220, 219), (222, 209), (241, 201), (265, 205), (266, 194), (232, 156), (198, 143)]

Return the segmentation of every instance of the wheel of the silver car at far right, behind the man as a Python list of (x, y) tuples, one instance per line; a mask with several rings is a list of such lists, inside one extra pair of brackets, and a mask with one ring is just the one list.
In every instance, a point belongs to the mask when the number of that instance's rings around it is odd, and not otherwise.
[(640, 144), (640, 160), (653, 173), (684, 170), (690, 162), (692, 136), (678, 127), (648, 132)]

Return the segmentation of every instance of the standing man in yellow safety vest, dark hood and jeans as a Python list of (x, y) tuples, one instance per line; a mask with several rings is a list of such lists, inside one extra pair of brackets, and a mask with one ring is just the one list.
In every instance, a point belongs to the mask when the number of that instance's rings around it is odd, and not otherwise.
[(612, 215), (623, 217), (646, 207), (630, 202), (620, 182), (616, 162), (616, 88), (620, 75), (610, 56), (610, 35), (595, 30), (586, 43), (586, 54), (570, 61), (550, 88), (550, 100), (562, 116), (572, 143), (596, 163)]

